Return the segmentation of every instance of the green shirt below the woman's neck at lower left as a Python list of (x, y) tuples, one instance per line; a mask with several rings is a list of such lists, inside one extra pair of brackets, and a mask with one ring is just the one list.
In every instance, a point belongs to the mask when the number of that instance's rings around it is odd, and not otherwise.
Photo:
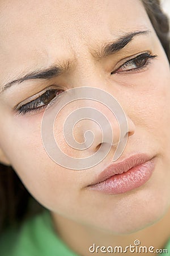
[[(168, 250), (168, 253), (162, 253), (160, 255), (170, 255), (170, 240), (165, 249)], [(108, 254), (113, 255), (114, 253)], [(0, 255), (78, 256), (54, 232), (52, 218), (47, 210), (29, 218), (19, 230), (11, 229), (3, 234), (0, 239)]]

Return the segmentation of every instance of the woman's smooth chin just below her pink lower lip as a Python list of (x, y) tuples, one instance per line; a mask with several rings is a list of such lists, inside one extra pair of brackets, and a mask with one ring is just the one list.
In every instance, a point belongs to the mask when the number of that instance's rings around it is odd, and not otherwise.
[(110, 204), (108, 209), (98, 212), (94, 225), (103, 232), (125, 235), (156, 224), (167, 213), (170, 205), (169, 198), (159, 192), (141, 191), (138, 195), (134, 193), (116, 204)]

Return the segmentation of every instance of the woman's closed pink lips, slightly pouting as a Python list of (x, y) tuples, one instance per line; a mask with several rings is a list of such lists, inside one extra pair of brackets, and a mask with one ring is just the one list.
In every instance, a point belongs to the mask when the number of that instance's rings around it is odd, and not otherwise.
[(104, 169), (89, 189), (116, 195), (140, 187), (150, 179), (155, 158), (146, 154), (132, 155)]

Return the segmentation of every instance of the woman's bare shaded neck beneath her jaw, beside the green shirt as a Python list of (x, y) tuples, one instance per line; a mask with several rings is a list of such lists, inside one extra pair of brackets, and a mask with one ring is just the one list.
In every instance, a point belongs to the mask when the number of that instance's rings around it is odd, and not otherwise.
[[(107, 250), (109, 246), (109, 252), (111, 247), (121, 246), (125, 250), (126, 246), (135, 246), (134, 241), (139, 240), (141, 245), (146, 246), (147, 250), (150, 246), (156, 249), (163, 249), (170, 237), (170, 209), (164, 215), (164, 217), (156, 222), (154, 225), (148, 226), (145, 229), (138, 232), (126, 234), (126, 235), (113, 235), (103, 230), (92, 228), (91, 226), (83, 225), (63, 216), (59, 216), (56, 213), (52, 213), (54, 226), (59, 237), (78, 255), (91, 255), (95, 250), (97, 255), (103, 255), (101, 250)], [(89, 248), (91, 247), (91, 253)], [(97, 247), (100, 246), (100, 247)], [(101, 249), (105, 246), (106, 249)], [(135, 250), (134, 253), (130, 253), (128, 249), (127, 255), (138, 255), (136, 253), (136, 247), (132, 247), (131, 250)], [(153, 249), (154, 251), (154, 249)], [(114, 255), (120, 255), (120, 253), (114, 253)], [(153, 255), (153, 253), (147, 251), (142, 255)]]

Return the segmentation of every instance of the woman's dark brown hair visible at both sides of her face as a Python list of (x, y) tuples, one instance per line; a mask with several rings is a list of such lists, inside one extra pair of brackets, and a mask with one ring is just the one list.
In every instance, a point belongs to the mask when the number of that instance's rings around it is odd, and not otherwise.
[[(169, 24), (159, 0), (141, 0), (158, 35), (165, 53), (169, 57)], [(0, 230), (21, 222), (25, 216), (43, 209), (24, 188), (11, 167), (0, 164)]]

